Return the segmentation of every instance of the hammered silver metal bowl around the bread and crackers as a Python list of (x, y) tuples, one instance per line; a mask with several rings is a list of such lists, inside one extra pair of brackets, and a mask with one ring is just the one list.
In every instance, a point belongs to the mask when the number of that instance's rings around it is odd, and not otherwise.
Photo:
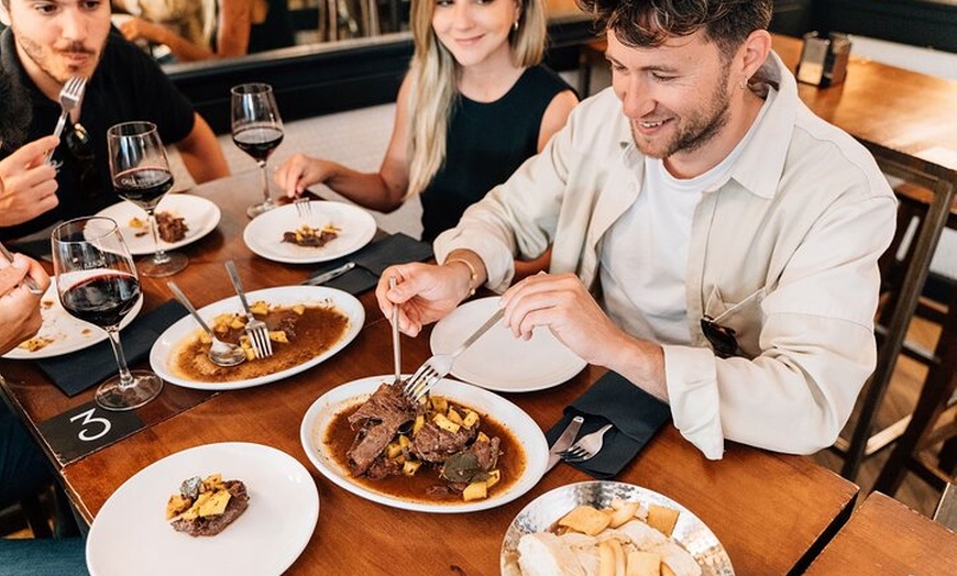
[(678, 510), (678, 523), (672, 540), (686, 550), (702, 568), (704, 576), (734, 576), (732, 560), (717, 536), (704, 522), (671, 498), (648, 488), (618, 481), (584, 481), (550, 490), (529, 502), (505, 532), (502, 542), (501, 568), (503, 576), (519, 576), (518, 541), (525, 534), (543, 532), (561, 517), (579, 506), (607, 508), (612, 500), (666, 506)]

